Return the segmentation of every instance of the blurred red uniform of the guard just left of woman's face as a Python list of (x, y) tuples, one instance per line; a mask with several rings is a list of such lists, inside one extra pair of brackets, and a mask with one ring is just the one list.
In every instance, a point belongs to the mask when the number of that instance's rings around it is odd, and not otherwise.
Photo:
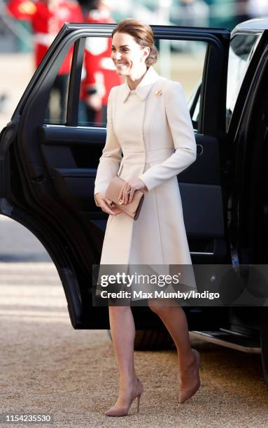
[[(85, 17), (85, 22), (112, 23), (113, 20), (103, 10), (91, 10)], [(85, 43), (85, 71), (82, 82), (82, 98), (85, 99), (90, 90), (97, 90), (101, 95), (101, 104), (108, 104), (108, 94), (111, 88), (122, 83), (122, 78), (115, 71), (111, 59), (112, 39), (89, 37)]]

